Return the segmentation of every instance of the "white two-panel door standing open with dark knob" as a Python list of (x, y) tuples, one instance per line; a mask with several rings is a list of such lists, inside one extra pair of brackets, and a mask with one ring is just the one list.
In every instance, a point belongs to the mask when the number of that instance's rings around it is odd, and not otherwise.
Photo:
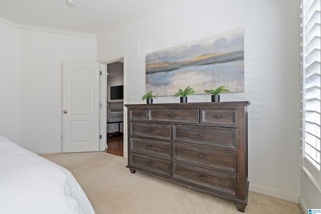
[(99, 63), (63, 63), (63, 152), (99, 151)]

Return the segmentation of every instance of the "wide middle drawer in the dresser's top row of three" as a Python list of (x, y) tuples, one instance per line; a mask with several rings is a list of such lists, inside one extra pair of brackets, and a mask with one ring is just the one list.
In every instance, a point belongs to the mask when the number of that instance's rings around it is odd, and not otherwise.
[(199, 123), (199, 109), (148, 109), (149, 121)]

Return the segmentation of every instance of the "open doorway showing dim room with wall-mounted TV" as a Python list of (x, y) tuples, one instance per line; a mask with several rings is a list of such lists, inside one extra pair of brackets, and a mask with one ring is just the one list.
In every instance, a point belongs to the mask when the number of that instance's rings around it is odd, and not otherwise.
[(119, 59), (107, 65), (106, 152), (124, 156), (124, 62)]

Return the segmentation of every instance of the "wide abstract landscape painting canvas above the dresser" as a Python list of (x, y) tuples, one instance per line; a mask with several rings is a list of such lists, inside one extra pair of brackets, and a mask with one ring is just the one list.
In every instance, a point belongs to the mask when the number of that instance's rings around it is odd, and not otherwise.
[(146, 55), (146, 92), (173, 96), (191, 86), (197, 94), (221, 85), (244, 91), (244, 30)]

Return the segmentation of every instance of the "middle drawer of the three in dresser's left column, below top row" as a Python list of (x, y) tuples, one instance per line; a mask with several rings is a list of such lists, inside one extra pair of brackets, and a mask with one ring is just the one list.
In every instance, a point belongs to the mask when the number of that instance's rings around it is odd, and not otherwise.
[(171, 142), (132, 137), (130, 151), (171, 158)]

